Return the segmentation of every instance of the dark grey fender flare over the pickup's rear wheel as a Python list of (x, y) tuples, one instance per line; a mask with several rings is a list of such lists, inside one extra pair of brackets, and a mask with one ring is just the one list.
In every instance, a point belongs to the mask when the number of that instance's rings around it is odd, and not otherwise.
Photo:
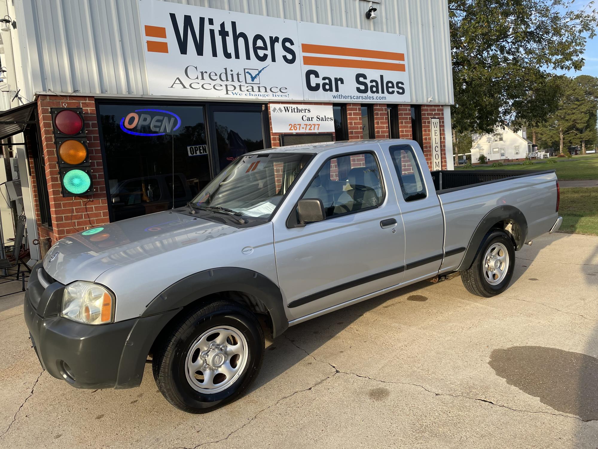
[(456, 271), (463, 271), (471, 267), (478, 251), (480, 251), (480, 248), (487, 240), (490, 230), (496, 223), (504, 220), (511, 220), (512, 222), (517, 223), (520, 232), (518, 235), (514, 236), (515, 251), (519, 251), (521, 247), (523, 247), (523, 244), (527, 239), (527, 220), (523, 215), (523, 212), (518, 208), (509, 205), (495, 207), (481, 219), (480, 223), (478, 223), (471, 239), (469, 239), (469, 244), (465, 250), (465, 256), (463, 256), (463, 260), (456, 268)]

